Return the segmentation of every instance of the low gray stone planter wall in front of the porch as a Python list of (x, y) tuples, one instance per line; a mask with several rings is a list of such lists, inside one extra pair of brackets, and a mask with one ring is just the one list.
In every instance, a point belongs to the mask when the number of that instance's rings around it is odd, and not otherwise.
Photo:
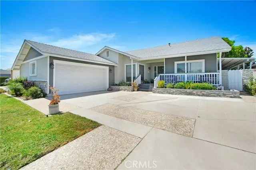
[(153, 93), (206, 96), (206, 97), (223, 97), (223, 98), (240, 98), (240, 92), (237, 90), (192, 90), (178, 88), (153, 88)]

